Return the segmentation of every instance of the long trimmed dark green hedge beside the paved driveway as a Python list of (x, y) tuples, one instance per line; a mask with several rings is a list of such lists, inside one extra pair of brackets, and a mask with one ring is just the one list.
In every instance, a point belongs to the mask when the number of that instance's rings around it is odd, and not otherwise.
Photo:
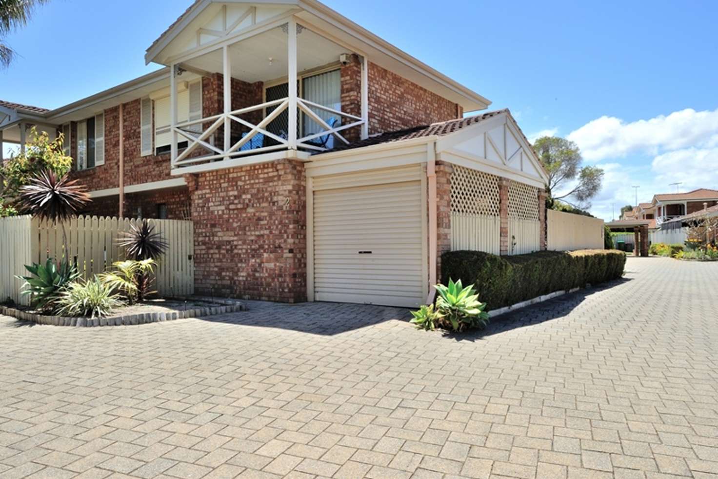
[(625, 254), (617, 250), (538, 251), (517, 256), (449, 251), (442, 254), (442, 284), (449, 277), (475, 284), (487, 310), (496, 310), (544, 294), (618, 279), (625, 262)]

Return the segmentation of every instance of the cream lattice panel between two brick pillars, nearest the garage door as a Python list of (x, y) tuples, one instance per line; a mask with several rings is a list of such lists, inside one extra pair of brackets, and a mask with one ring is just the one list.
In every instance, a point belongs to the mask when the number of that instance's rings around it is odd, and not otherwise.
[(498, 176), (454, 166), (451, 211), (469, 215), (499, 215)]

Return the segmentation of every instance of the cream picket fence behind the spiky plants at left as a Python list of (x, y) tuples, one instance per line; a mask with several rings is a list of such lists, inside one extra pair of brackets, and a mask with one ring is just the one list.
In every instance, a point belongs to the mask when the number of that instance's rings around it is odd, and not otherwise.
[[(88, 279), (125, 259), (117, 239), (141, 220), (129, 218), (98, 218), (79, 216), (65, 222), (67, 256), (78, 265), (83, 278)], [(157, 292), (165, 297), (187, 296), (195, 291), (194, 230), (192, 221), (149, 220), (155, 231), (167, 241), (167, 254), (158, 261)], [(25, 264), (42, 263), (48, 258), (62, 258), (65, 254), (62, 226), (37, 218), (20, 216), (0, 219), (0, 300), (10, 297), (27, 304), (20, 294)]]

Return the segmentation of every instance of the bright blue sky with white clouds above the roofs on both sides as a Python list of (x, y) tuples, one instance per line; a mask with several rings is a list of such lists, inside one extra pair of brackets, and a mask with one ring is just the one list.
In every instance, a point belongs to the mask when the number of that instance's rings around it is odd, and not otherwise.
[[(190, 1), (50, 1), (7, 38), (21, 56), (0, 98), (55, 108), (154, 70), (144, 50)], [(601, 218), (634, 203), (631, 185), (640, 201), (675, 181), (718, 189), (718, 2), (325, 3), (510, 108), (530, 138), (577, 141), (606, 170)]]

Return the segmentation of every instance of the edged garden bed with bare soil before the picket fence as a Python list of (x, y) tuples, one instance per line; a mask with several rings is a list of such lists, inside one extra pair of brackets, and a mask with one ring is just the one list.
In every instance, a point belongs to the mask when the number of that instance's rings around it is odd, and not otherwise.
[(144, 325), (149, 322), (181, 320), (187, 317), (224, 315), (246, 311), (245, 304), (233, 299), (190, 297), (182, 299), (151, 299), (142, 303), (127, 304), (113, 310), (108, 317), (49, 316), (29, 307), (0, 306), (0, 314), (39, 325), (55, 326), (121, 326)]

